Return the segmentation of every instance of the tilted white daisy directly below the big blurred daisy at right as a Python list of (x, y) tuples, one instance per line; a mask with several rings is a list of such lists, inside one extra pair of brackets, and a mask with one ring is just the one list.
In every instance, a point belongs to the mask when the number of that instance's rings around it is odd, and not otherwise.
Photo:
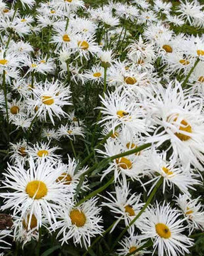
[[(150, 178), (144, 185), (147, 183), (152, 183), (152, 188), (150, 188), (149, 193), (154, 188), (155, 184), (162, 176), (164, 177), (163, 181), (163, 193), (166, 189), (166, 186), (173, 188), (176, 186), (183, 193), (190, 195), (189, 189), (196, 190), (193, 186), (201, 184), (198, 181), (199, 176), (192, 174), (188, 169), (185, 169), (179, 164), (176, 166), (174, 161), (167, 161), (166, 154), (157, 154), (156, 152), (152, 153), (147, 162), (147, 169), (149, 169), (149, 174), (152, 174), (153, 177)], [(159, 174), (159, 176), (158, 176)]]

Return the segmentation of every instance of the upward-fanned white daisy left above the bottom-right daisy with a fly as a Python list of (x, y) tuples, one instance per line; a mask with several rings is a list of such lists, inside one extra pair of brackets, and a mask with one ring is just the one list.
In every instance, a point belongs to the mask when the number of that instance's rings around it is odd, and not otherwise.
[[(141, 203), (141, 194), (130, 193), (131, 189), (129, 189), (129, 185), (126, 180), (123, 182), (119, 181), (118, 185), (115, 186), (115, 191), (108, 192), (110, 198), (107, 198), (107, 196), (104, 197), (108, 202), (103, 202), (102, 206), (110, 208), (111, 213), (114, 214), (115, 218), (118, 218), (115, 225), (120, 220), (125, 221), (125, 226), (129, 225), (130, 221), (135, 218), (142, 206), (144, 206), (144, 203)], [(137, 221), (134, 224), (137, 226)], [(113, 228), (115, 228), (115, 225)], [(131, 226), (131, 229), (134, 230), (134, 225)]]

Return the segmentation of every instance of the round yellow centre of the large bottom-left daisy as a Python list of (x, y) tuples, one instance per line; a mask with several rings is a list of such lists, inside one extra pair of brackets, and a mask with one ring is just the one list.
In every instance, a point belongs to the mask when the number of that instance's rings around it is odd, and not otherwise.
[(42, 181), (30, 181), (26, 186), (26, 193), (30, 198), (40, 199), (47, 195), (47, 186)]

